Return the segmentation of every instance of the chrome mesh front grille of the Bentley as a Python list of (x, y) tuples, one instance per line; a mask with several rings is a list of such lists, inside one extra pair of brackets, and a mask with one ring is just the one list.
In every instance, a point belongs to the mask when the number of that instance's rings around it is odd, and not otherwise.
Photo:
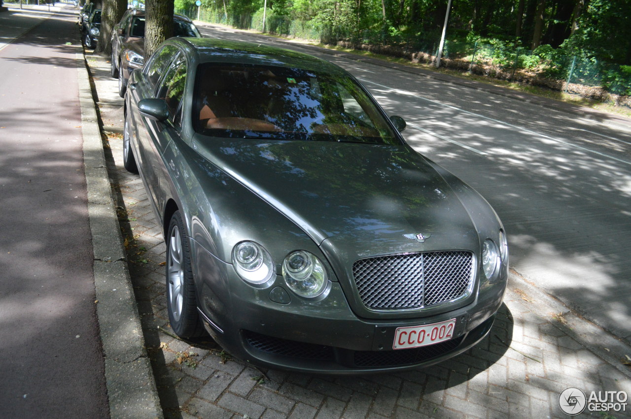
[(353, 264), (355, 285), (371, 309), (419, 309), (466, 295), (473, 254), (437, 251), (379, 256)]

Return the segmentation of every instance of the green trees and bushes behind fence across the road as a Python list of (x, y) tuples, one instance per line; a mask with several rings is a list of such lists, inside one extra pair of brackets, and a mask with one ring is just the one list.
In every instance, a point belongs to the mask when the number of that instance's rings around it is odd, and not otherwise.
[[(446, 1), (383, 0), (268, 0), (266, 31), (334, 43), (389, 45), (406, 52), (437, 51)], [(572, 12), (578, 0), (547, 0), (542, 43), (529, 50), (534, 32), (533, 1), (525, 1), (518, 19), (519, 0), (459, 0), (452, 3), (444, 54), (450, 59), (475, 61), (502, 69), (504, 74), (530, 74), (602, 86), (612, 93), (631, 92), (630, 0), (590, 0), (570, 36)], [(264, 0), (202, 0), (202, 19), (239, 28), (262, 29)], [(227, 7), (227, 17), (224, 14)], [(196, 18), (194, 0), (175, 0)], [(517, 23), (521, 27), (517, 30)], [(574, 60), (574, 57), (575, 60)], [(572, 67), (574, 60), (575, 66)], [(609, 66), (606, 62), (617, 62)], [(620, 64), (623, 64), (622, 66)], [(612, 67), (613, 66), (613, 67)]]

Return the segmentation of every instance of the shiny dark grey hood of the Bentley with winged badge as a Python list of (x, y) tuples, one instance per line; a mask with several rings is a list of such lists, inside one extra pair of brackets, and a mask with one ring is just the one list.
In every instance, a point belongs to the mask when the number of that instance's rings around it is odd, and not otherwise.
[[(409, 147), (201, 136), (192, 146), (295, 222), (325, 253), (351, 261), (478, 250), (476, 228), (456, 193)], [(427, 239), (418, 241), (416, 234)]]

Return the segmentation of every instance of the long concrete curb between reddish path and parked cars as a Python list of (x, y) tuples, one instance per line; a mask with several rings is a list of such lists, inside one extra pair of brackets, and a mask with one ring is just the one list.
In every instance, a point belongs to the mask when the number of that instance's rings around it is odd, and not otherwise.
[(163, 418), (127, 270), (85, 57), (76, 54), (76, 60), (97, 316), (105, 354), (110, 416)]

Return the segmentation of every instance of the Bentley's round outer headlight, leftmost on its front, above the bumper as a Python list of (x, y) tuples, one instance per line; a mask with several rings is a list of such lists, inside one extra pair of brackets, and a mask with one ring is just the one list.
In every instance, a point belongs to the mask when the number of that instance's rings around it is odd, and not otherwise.
[(274, 263), (267, 250), (253, 241), (232, 249), (232, 263), (239, 276), (251, 284), (265, 284), (274, 276)]

